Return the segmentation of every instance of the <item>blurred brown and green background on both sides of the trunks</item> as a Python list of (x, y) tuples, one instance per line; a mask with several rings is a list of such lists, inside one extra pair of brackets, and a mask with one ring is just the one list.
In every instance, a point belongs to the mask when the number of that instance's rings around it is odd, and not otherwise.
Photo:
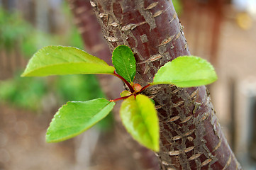
[[(191, 54), (216, 67), (218, 81), (208, 89), (230, 147), (244, 169), (256, 169), (256, 0), (172, 2)], [(133, 146), (123, 146), (127, 137), (120, 137), (113, 115), (72, 140), (45, 143), (50, 120), (64, 103), (112, 98), (110, 87), (122, 91), (116, 79), (106, 84), (107, 77), (20, 77), (33, 53), (47, 45), (103, 54), (90, 45), (97, 38), (83, 43), (77, 19), (93, 11), (78, 10), (62, 0), (0, 0), (0, 170), (145, 169), (135, 163), (141, 155)]]

